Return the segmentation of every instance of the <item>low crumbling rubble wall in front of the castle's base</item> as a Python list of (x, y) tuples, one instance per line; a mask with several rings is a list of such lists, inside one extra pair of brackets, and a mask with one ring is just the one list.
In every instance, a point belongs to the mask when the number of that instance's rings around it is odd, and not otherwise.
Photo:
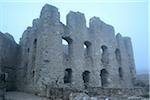
[[(58, 88), (58, 87), (49, 87), (47, 91), (47, 98), (52, 100), (62, 99), (62, 100), (70, 100), (70, 97), (76, 95), (76, 97), (80, 97), (80, 95), (85, 94), (90, 97), (103, 97), (105, 98), (116, 97), (115, 100), (119, 100), (119, 97), (126, 98), (123, 100), (127, 100), (127, 97), (139, 97), (144, 94), (144, 90), (142, 88), (101, 88), (101, 87), (92, 87), (84, 90), (73, 89), (73, 88)], [(72, 99), (71, 99), (72, 100)], [(75, 98), (73, 100), (76, 100)], [(87, 99), (91, 100), (91, 99)], [(96, 99), (99, 100), (99, 99)], [(101, 99), (100, 99), (101, 100)]]

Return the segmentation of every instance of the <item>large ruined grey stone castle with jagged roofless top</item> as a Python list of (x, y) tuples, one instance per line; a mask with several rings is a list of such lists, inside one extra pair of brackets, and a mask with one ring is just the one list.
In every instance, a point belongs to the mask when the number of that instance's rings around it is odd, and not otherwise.
[(14, 68), (10, 73), (16, 76), (13, 86), (41, 95), (50, 87), (133, 87), (131, 39), (115, 35), (114, 28), (98, 17), (90, 19), (89, 27), (80, 12), (70, 11), (66, 20), (64, 25), (58, 9), (46, 4), (19, 45), (0, 34), (0, 68)]

